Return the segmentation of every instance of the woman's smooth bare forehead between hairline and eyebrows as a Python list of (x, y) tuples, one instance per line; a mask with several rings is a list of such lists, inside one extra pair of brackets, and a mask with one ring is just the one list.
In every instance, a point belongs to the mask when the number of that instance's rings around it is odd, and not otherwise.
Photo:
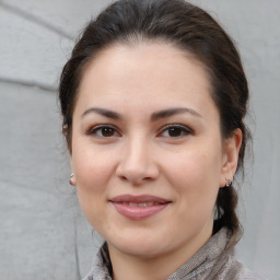
[(89, 62), (78, 101), (114, 106), (133, 97), (139, 105), (156, 101), (160, 106), (166, 102), (178, 105), (191, 97), (195, 103), (212, 103), (210, 92), (206, 68), (187, 51), (163, 43), (119, 44)]

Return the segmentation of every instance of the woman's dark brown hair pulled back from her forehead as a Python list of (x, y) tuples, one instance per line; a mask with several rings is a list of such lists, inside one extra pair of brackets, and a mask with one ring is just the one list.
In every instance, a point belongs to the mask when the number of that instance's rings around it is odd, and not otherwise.
[[(229, 35), (207, 12), (184, 0), (119, 0), (89, 23), (60, 78), (59, 98), (69, 149), (72, 113), (86, 63), (116, 43), (145, 40), (171, 43), (207, 68), (212, 98), (220, 113), (222, 137), (230, 137), (236, 128), (243, 132), (237, 166), (242, 170), (249, 136), (243, 121), (248, 88), (238, 52)], [(219, 190), (214, 230), (228, 226), (233, 234), (241, 233), (236, 205), (237, 194), (233, 187)]]

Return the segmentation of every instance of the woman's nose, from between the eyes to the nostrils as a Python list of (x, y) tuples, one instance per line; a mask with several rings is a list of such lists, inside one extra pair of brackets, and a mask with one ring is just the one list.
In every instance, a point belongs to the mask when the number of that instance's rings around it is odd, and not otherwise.
[(153, 147), (149, 141), (140, 138), (128, 140), (121, 151), (116, 174), (120, 179), (132, 185), (156, 179), (160, 171)]

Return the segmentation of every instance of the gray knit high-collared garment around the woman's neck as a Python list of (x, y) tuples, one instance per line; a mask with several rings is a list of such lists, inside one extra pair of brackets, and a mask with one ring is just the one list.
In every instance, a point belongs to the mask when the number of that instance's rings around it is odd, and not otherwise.
[[(190, 260), (166, 280), (260, 280), (234, 259), (231, 242), (228, 230), (221, 229)], [(83, 280), (112, 280), (110, 271), (108, 249), (104, 244), (96, 256), (92, 271)]]

